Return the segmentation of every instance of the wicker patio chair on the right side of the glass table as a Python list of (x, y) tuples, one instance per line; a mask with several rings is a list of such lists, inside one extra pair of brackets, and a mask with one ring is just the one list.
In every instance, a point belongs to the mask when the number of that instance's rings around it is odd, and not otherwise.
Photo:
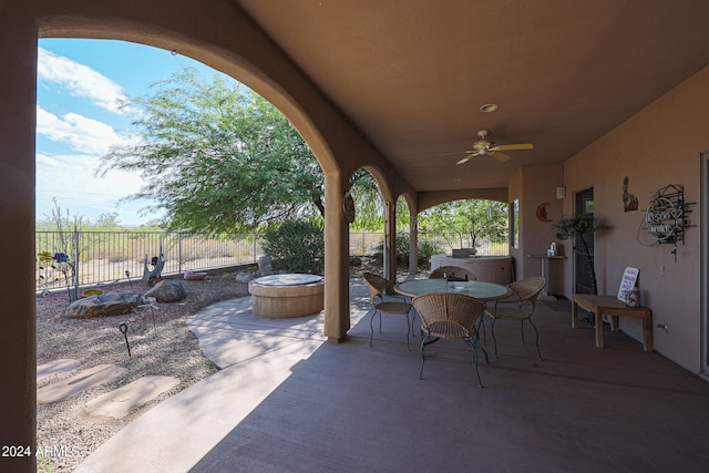
[(540, 296), (540, 292), (546, 286), (546, 279), (543, 277), (530, 277), (526, 279), (521, 279), (518, 281), (514, 281), (507, 285), (507, 287), (512, 290), (513, 297), (516, 298), (514, 302), (517, 307), (504, 307), (503, 305), (497, 305), (495, 302), (495, 307), (492, 310), (486, 310), (487, 316), (492, 318), (492, 339), (495, 343), (495, 357), (497, 357), (497, 340), (495, 339), (495, 321), (497, 320), (516, 320), (520, 322), (520, 332), (522, 335), (522, 342), (524, 343), (524, 321), (528, 321), (532, 328), (534, 329), (534, 343), (536, 345), (536, 352), (542, 360), (542, 352), (540, 351), (540, 331), (532, 321), (532, 315), (534, 313), (534, 309), (536, 307), (536, 299)]

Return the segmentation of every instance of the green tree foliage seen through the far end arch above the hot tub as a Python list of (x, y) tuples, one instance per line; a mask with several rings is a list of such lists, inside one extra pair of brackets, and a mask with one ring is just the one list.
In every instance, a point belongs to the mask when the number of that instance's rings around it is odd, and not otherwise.
[(504, 243), (507, 238), (507, 205), (493, 200), (455, 200), (436, 205), (419, 215), (423, 234), (455, 235), (452, 247), (476, 247), (482, 239)]

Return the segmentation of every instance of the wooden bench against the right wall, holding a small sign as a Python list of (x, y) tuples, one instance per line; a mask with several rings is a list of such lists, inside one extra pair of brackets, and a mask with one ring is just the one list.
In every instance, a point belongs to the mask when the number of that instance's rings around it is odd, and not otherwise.
[(610, 329), (618, 329), (618, 317), (643, 319), (643, 349), (653, 351), (653, 311), (647, 307), (628, 307), (615, 296), (575, 294), (572, 305), (572, 327), (578, 327), (578, 306), (596, 315), (596, 347), (603, 348), (603, 316), (612, 316)]

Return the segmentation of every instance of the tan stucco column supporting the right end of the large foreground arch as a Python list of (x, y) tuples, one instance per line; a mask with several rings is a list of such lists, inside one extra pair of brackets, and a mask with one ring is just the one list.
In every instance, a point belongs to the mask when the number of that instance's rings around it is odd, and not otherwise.
[(339, 175), (325, 175), (325, 336), (339, 342), (350, 329), (350, 228)]

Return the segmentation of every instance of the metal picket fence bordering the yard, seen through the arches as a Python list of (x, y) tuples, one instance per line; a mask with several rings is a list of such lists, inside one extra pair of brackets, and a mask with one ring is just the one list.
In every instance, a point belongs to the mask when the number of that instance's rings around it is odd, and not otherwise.
[[(161, 246), (164, 276), (254, 264), (263, 256), (260, 240), (258, 234), (37, 232), (37, 290), (72, 286), (70, 264), (75, 267), (80, 286), (141, 279), (146, 261), (152, 269)], [(371, 256), (381, 251), (383, 240), (383, 233), (351, 233), (350, 255)], [(451, 253), (450, 239), (441, 235), (420, 235), (419, 243), (424, 240), (435, 245), (436, 253)], [(507, 255), (507, 244), (483, 243), (477, 245), (477, 254)], [(62, 261), (64, 258), (66, 261)]]

